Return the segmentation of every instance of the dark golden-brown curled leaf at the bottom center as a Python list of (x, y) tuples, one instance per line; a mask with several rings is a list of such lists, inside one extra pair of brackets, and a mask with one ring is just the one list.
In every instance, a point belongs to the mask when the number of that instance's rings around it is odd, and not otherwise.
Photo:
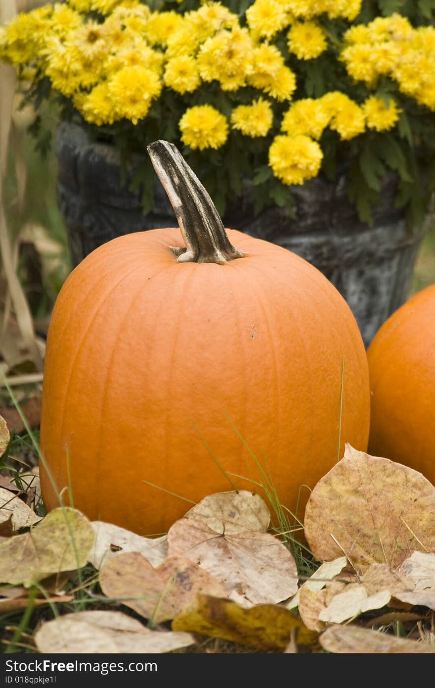
[(175, 617), (172, 629), (264, 650), (285, 649), (292, 632), (299, 645), (313, 645), (317, 641), (317, 633), (280, 605), (256, 605), (245, 609), (236, 602), (200, 594)]

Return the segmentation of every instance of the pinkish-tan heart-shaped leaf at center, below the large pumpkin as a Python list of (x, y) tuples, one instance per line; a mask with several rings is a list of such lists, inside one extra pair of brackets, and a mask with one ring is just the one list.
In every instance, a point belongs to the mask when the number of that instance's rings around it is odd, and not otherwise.
[(193, 519), (183, 518), (168, 532), (168, 553), (197, 561), (225, 585), (254, 604), (277, 603), (298, 590), (291, 553), (269, 533), (222, 535)]

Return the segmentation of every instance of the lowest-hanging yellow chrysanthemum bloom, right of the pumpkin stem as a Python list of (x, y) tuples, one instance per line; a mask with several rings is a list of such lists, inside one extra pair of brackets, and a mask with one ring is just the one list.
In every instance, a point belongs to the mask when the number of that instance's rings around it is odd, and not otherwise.
[(309, 136), (276, 136), (269, 148), (269, 165), (284, 184), (303, 184), (317, 176), (323, 153)]

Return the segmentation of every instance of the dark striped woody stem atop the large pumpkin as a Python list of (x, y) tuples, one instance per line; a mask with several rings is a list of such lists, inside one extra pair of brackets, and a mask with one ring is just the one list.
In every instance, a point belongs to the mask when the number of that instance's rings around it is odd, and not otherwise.
[(210, 195), (177, 148), (155, 141), (147, 150), (186, 242), (186, 248), (170, 247), (177, 260), (223, 264), (246, 255), (230, 243)]

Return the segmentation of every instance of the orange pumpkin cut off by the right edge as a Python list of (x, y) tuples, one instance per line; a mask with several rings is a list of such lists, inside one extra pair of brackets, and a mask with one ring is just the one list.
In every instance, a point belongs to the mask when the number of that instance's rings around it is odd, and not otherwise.
[(394, 312), (367, 353), (370, 453), (435, 484), (435, 285)]

